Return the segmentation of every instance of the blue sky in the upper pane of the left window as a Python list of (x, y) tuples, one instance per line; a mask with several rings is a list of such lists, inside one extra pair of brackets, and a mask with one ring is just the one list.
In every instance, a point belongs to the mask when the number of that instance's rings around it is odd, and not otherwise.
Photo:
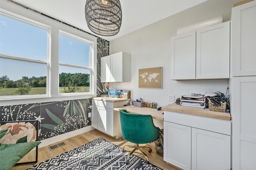
[(48, 30), (0, 15), (0, 53), (47, 61)]

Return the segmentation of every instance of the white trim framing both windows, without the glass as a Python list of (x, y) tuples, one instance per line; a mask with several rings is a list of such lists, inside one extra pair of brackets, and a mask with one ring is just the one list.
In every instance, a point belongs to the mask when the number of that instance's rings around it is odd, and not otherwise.
[[(0, 13), (13, 16), (14, 18), (19, 18), (20, 20), (33, 23), (36, 25), (42, 25), (43, 27), (50, 27), (50, 43), (49, 43), (49, 64), (48, 71), (50, 71), (48, 76), (50, 80), (48, 81), (49, 86), (49, 96), (36, 96), (29, 98), (29, 96), (24, 96), (24, 98), (10, 98), (10, 99), (0, 99), (0, 106), (9, 106), (9, 105), (17, 105), (17, 104), (30, 104), (30, 103), (40, 103), (40, 102), (55, 102), (62, 100), (79, 100), (96, 97), (96, 81), (97, 81), (97, 37), (93, 35), (84, 33), (78, 29), (60, 23), (58, 21), (52, 20), (46, 16), (28, 10), (24, 7), (18, 6), (7, 0), (1, 0)], [(90, 92), (91, 94), (72, 94), (68, 96), (60, 96), (58, 95), (58, 36), (59, 30), (62, 30), (66, 33), (75, 35), (77, 37), (81, 37), (82, 39), (88, 40), (91, 45), (92, 58), (91, 58), (91, 74), (90, 76)], [(53, 38), (54, 37), (54, 38)], [(54, 41), (53, 41), (54, 40)], [(56, 49), (56, 50), (52, 50)], [(54, 73), (54, 74), (53, 74)]]

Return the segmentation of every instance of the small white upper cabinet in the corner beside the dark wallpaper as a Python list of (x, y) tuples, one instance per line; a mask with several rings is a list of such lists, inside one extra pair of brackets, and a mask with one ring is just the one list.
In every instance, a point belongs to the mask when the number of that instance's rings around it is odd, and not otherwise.
[(101, 82), (130, 82), (131, 55), (125, 52), (101, 58)]

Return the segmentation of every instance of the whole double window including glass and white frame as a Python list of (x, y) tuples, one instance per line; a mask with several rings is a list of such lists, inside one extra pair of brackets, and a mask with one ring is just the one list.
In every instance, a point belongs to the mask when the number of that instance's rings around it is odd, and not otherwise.
[(96, 96), (97, 37), (8, 2), (0, 24), (1, 105)]

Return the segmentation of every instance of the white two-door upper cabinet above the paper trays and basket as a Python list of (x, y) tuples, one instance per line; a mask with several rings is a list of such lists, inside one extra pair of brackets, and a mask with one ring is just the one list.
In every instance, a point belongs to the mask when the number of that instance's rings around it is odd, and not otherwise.
[(172, 80), (224, 79), (229, 70), (230, 21), (172, 37)]

